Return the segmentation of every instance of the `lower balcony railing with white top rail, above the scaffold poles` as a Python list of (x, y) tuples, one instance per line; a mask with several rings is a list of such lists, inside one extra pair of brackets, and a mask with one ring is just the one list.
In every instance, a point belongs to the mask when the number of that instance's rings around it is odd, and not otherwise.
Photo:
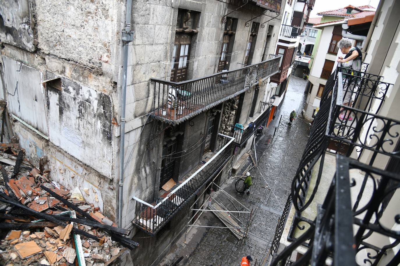
[(156, 234), (196, 193), (208, 183), (232, 157), (234, 138), (218, 134), (223, 140), (222, 148), (200, 169), (184, 180), (163, 199), (147, 203), (138, 197), (134, 225), (150, 235)]

